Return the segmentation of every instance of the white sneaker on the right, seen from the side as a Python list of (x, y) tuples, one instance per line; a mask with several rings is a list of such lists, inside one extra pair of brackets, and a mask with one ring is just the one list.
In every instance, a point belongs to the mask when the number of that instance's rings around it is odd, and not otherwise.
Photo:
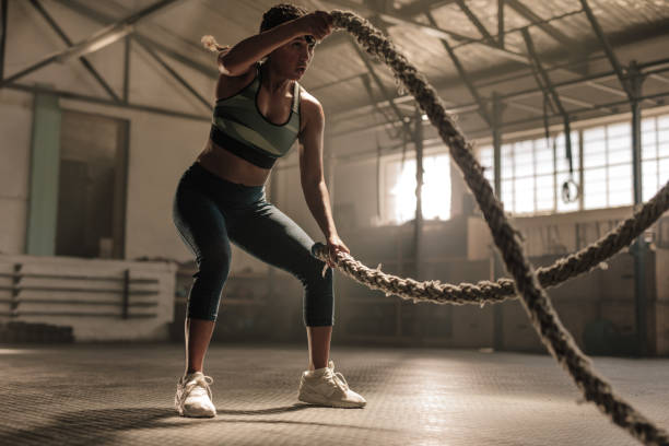
[(334, 363), (327, 367), (302, 373), (297, 399), (312, 404), (334, 408), (362, 408), (367, 401), (351, 390), (341, 373), (334, 373)]

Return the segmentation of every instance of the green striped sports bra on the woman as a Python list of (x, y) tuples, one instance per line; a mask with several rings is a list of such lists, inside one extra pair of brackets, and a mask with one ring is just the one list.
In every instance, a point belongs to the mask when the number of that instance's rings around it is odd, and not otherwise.
[(300, 90), (295, 82), (293, 104), (286, 122), (271, 122), (258, 108), (261, 71), (256, 66), (254, 81), (231, 97), (216, 101), (211, 126), (211, 140), (233, 154), (270, 168), (285, 155), (300, 132)]

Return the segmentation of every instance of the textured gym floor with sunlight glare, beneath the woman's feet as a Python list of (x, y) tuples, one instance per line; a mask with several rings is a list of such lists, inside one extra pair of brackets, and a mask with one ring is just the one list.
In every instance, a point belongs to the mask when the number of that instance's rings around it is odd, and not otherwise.
[[(637, 445), (547, 355), (333, 345), (364, 409), (297, 401), (306, 344), (212, 343), (214, 419), (173, 409), (178, 344), (0, 345), (1, 445)], [(669, 427), (669, 360), (595, 357)]]

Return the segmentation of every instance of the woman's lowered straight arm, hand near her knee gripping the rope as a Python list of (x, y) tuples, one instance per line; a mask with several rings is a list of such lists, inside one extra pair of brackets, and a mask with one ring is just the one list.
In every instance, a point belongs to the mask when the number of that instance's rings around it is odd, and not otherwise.
[(302, 117), (305, 119), (305, 127), (300, 133), (300, 178), (304, 198), (326, 237), (330, 255), (334, 256), (337, 250), (350, 253), (339, 238), (332, 219), (330, 195), (322, 173), (325, 114), (315, 97), (303, 98)]

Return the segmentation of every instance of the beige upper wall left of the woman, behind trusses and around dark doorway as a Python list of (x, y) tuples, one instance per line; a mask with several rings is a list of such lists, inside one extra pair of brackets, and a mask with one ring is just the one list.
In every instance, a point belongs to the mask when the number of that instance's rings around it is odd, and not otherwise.
[[(57, 3), (48, 11), (69, 37), (77, 42), (99, 28)], [(8, 44), (21, 43), (24, 50), (5, 54), (5, 75), (31, 66), (45, 55), (60, 51), (64, 44), (26, 2), (10, 8)], [(115, 90), (122, 90), (124, 45), (115, 44), (89, 56)], [(213, 66), (212, 60), (212, 66)], [(171, 62), (189, 82), (209, 97), (213, 81), (188, 67)], [(171, 78), (141, 48), (133, 46), (130, 59), (130, 102), (208, 116), (209, 111)], [(54, 63), (20, 81), (57, 90), (107, 98), (106, 92), (77, 61)], [(25, 251), (26, 211), (30, 200), (30, 144), (33, 95), (8, 89), (0, 91), (0, 253)], [(173, 118), (145, 111), (60, 99), (62, 109), (98, 114), (130, 122), (126, 258), (162, 257), (177, 261), (191, 258), (172, 223), (172, 199), (181, 173), (201, 150), (209, 130), (203, 120)], [(82, 132), (86, 129), (82, 128)], [(235, 257), (244, 258), (245, 254)]]

